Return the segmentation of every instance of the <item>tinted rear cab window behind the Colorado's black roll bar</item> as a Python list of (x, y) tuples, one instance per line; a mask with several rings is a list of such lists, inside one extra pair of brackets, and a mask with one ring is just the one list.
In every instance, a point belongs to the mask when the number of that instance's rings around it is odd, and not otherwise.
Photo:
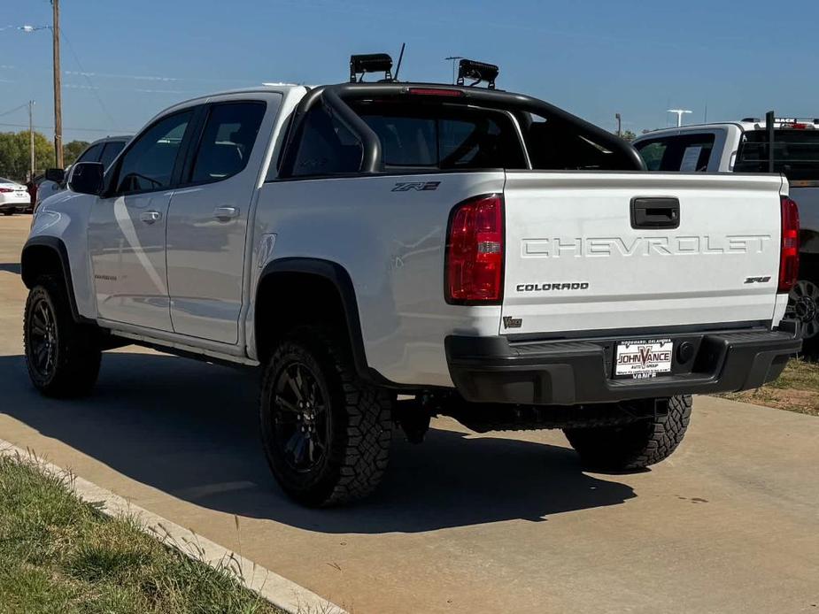
[(420, 104), (359, 104), (356, 111), (378, 135), (388, 169), (526, 168), (503, 111)]

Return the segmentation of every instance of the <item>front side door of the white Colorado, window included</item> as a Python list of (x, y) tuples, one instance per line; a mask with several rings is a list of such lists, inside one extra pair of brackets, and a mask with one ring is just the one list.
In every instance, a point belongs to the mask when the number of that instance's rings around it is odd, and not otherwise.
[(193, 109), (158, 119), (112, 169), (112, 186), (92, 205), (89, 255), (99, 317), (170, 331), (165, 233), (177, 165)]

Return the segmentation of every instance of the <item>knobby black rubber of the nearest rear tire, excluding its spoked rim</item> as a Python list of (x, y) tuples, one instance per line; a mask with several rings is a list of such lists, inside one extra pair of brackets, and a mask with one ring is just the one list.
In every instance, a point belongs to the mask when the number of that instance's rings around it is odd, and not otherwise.
[[(328, 412), (326, 451), (306, 473), (288, 464), (274, 431), (282, 415), (275, 387), (282, 370), (295, 364), (312, 372)], [(394, 402), (395, 395), (359, 379), (347, 344), (328, 329), (301, 327), (280, 342), (263, 374), (260, 426), (267, 462), (285, 493), (310, 507), (350, 503), (372, 493), (387, 469)]]

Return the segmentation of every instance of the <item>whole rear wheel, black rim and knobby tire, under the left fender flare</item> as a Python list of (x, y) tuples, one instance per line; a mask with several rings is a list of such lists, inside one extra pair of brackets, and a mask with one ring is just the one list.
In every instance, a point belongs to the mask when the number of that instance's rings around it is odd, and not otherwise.
[(350, 503), (378, 486), (395, 395), (359, 378), (344, 336), (323, 326), (293, 330), (267, 361), (260, 401), (267, 462), (298, 503)]

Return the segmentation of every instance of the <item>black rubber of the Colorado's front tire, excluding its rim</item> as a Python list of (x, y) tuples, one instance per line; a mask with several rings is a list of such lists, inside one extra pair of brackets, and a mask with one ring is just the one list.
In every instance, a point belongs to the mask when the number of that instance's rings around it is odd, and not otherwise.
[[(53, 355), (50, 368), (36, 365), (33, 311), (45, 303), (53, 314)], [(58, 277), (43, 275), (28, 293), (23, 318), (23, 345), (28, 375), (43, 395), (73, 398), (88, 395), (97, 383), (102, 351), (93, 326), (74, 321), (66, 285)]]

